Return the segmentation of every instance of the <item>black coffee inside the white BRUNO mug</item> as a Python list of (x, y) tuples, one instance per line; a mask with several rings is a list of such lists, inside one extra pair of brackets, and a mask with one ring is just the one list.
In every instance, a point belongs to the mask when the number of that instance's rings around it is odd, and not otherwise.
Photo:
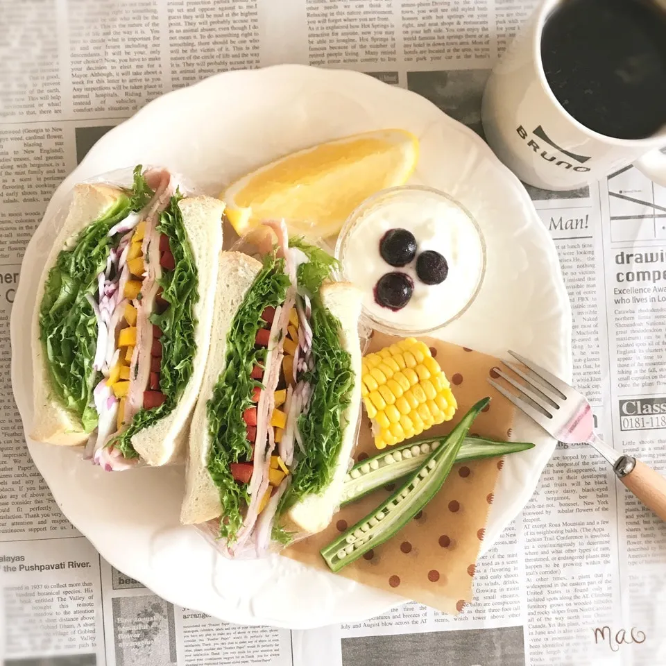
[(644, 139), (666, 125), (666, 8), (651, 0), (567, 0), (541, 38), (546, 80), (590, 130)]

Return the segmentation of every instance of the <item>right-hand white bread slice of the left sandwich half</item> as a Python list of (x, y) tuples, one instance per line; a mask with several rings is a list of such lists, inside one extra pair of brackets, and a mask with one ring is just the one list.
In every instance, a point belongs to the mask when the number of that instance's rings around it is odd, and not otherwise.
[(153, 425), (139, 430), (130, 441), (141, 458), (152, 466), (185, 461), (187, 433), (192, 410), (199, 395), (210, 347), (214, 318), (215, 285), (222, 250), (222, 213), (224, 203), (210, 196), (181, 199), (182, 223), (198, 272), (199, 300), (194, 305), (194, 368), (189, 382), (173, 411)]

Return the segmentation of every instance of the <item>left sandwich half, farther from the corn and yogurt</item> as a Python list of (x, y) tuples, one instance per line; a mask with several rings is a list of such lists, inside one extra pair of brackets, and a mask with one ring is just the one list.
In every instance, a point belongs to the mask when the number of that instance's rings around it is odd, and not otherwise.
[(185, 457), (210, 343), (224, 204), (164, 169), (77, 185), (33, 314), (31, 438), (105, 470)]

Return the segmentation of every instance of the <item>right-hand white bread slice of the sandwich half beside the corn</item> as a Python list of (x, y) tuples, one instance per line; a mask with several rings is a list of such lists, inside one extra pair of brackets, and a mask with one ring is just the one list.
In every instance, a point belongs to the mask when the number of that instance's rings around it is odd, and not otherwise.
[(340, 504), (349, 459), (356, 443), (356, 427), (361, 408), (361, 345), (358, 329), (361, 292), (349, 282), (330, 282), (321, 287), (320, 294), (323, 304), (340, 322), (340, 341), (351, 357), (355, 379), (350, 402), (341, 417), (344, 432), (333, 480), (321, 495), (302, 497), (283, 518), (287, 529), (309, 534), (316, 534), (328, 527)]

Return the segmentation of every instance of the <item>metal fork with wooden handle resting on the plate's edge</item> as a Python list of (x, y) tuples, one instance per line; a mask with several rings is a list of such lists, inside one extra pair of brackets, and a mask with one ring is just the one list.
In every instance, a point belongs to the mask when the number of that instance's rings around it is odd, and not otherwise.
[(518, 389), (527, 400), (514, 395), (492, 379), (488, 379), (490, 385), (558, 441), (567, 444), (585, 442), (595, 447), (613, 466), (617, 478), (645, 506), (666, 520), (666, 479), (642, 461), (619, 453), (604, 443), (595, 433), (590, 403), (575, 388), (533, 361), (511, 350), (509, 354), (520, 361), (525, 369), (507, 361), (502, 363), (527, 384), (517, 382), (500, 368), (494, 368), (495, 373)]

